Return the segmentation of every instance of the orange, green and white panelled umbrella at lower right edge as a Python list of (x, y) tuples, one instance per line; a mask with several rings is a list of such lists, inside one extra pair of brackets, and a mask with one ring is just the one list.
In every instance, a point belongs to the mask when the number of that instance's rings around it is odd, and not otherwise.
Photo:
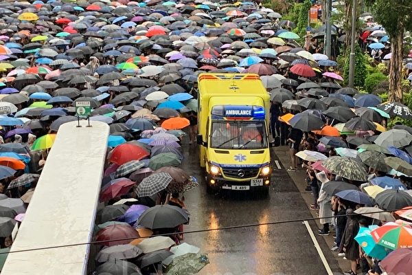
[(371, 231), (371, 235), (379, 245), (390, 250), (412, 248), (412, 225), (404, 221), (389, 221)]

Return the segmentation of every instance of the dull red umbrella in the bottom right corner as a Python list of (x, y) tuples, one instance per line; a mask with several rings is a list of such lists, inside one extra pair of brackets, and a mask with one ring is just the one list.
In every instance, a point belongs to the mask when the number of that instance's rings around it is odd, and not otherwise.
[(407, 270), (410, 270), (412, 262), (412, 249), (411, 248), (398, 248), (397, 250), (389, 253), (388, 256), (383, 259), (379, 265), (382, 270), (385, 270), (387, 274), (407, 274)]

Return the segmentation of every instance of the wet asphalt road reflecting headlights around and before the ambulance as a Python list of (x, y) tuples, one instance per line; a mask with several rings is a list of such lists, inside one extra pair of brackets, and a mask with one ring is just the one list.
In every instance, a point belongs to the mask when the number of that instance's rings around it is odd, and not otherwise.
[[(183, 169), (201, 181), (197, 146), (183, 145), (183, 151)], [(274, 153), (272, 159), (276, 159)], [(185, 203), (191, 219), (185, 231), (311, 217), (286, 170), (273, 170), (266, 198), (243, 191), (207, 195), (204, 185), (187, 192)], [(317, 230), (313, 222), (310, 225)], [(322, 237), (317, 239), (332, 271), (339, 272)], [(200, 274), (327, 274), (301, 222), (185, 234), (184, 242), (209, 255), (210, 264)]]

